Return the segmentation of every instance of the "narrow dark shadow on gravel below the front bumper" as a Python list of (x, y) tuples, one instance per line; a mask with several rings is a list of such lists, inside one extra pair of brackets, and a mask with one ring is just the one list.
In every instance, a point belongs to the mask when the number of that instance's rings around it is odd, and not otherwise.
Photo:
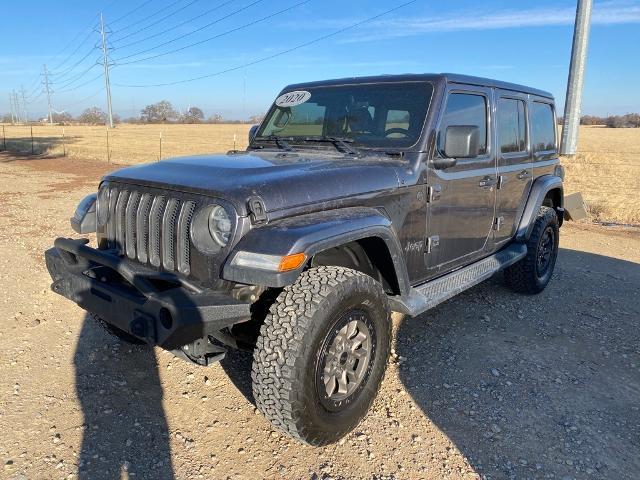
[(74, 363), (84, 415), (78, 478), (173, 479), (154, 349), (125, 344), (86, 315)]

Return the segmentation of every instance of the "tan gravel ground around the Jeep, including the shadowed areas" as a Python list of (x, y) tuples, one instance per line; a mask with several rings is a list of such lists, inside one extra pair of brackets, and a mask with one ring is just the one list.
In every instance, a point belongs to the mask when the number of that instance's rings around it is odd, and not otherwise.
[(416, 319), (339, 444), (273, 431), (250, 357), (199, 368), (109, 338), (42, 252), (108, 165), (0, 156), (0, 478), (640, 477), (640, 232), (568, 224), (550, 287), (499, 277)]

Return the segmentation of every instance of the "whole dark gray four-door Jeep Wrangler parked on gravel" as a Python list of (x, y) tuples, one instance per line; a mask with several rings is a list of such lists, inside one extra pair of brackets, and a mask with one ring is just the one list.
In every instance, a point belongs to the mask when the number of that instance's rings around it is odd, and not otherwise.
[(46, 252), (53, 291), (131, 343), (209, 365), (253, 351), (258, 408), (335, 442), (384, 375), (392, 311), (504, 271), (551, 279), (563, 220), (554, 100), (460, 75), (286, 87), (246, 151), (107, 175)]

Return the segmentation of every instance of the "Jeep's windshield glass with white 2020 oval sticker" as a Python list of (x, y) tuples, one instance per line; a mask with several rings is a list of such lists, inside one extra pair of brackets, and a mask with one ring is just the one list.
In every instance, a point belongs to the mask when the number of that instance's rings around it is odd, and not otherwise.
[(313, 87), (276, 99), (256, 138), (340, 138), (359, 147), (406, 148), (424, 125), (433, 94), (425, 82)]

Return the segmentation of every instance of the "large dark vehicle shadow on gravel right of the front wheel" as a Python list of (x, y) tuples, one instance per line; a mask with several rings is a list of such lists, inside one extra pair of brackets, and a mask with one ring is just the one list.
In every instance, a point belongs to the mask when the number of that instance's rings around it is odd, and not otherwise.
[(640, 265), (562, 249), (540, 295), (500, 276), (420, 318), (407, 392), (484, 478), (640, 476)]

